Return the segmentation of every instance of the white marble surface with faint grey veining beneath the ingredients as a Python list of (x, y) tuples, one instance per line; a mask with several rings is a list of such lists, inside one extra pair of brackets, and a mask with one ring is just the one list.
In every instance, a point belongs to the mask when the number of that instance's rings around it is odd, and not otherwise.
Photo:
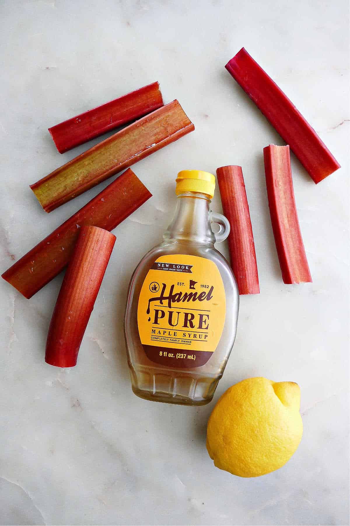
[[(28, 185), (86, 148), (59, 155), (49, 126), (154, 80), (196, 126), (133, 167), (154, 197), (114, 230), (76, 368), (44, 362), (62, 276), (31, 300), (1, 282), (1, 524), (348, 524), (347, 4), (1, 2), (2, 271), (107, 184), (46, 215)], [(281, 280), (262, 148), (283, 141), (224, 69), (242, 46), (342, 165), (315, 186), (292, 158), (313, 284)], [(241, 297), (215, 401), (252, 376), (296, 381), (302, 393), (298, 451), (257, 479), (214, 468), (205, 449), (214, 403), (133, 395), (122, 331), (131, 272), (171, 218), (177, 171), (225, 164), (243, 167), (261, 294)]]

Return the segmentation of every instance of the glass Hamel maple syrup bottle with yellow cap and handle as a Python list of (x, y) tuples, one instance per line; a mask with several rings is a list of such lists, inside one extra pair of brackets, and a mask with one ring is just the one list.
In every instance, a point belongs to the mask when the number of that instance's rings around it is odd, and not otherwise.
[(214, 175), (183, 170), (176, 183), (164, 240), (132, 275), (124, 333), (135, 395), (200, 406), (213, 398), (234, 345), (239, 295), (228, 262), (214, 248), (230, 232), (226, 217), (209, 207)]

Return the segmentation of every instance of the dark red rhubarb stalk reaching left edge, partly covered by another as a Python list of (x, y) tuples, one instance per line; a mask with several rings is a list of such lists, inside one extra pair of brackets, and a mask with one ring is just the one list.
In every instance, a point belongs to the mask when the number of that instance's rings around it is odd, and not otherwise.
[(113, 230), (150, 197), (152, 194), (129, 168), (16, 261), (2, 277), (23, 296), (31, 298), (66, 267), (82, 226)]

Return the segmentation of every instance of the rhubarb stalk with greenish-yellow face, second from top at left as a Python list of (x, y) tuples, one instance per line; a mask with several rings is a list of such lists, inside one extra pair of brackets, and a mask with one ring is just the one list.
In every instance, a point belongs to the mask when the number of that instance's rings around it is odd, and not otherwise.
[(30, 188), (46, 212), (194, 130), (177, 100), (156, 109)]

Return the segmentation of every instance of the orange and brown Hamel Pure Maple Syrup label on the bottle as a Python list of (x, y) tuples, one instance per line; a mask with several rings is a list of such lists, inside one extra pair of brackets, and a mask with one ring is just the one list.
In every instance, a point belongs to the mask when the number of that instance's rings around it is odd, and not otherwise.
[(213, 261), (183, 254), (156, 259), (137, 306), (150, 360), (168, 367), (204, 365), (219, 343), (225, 316), (224, 284)]

